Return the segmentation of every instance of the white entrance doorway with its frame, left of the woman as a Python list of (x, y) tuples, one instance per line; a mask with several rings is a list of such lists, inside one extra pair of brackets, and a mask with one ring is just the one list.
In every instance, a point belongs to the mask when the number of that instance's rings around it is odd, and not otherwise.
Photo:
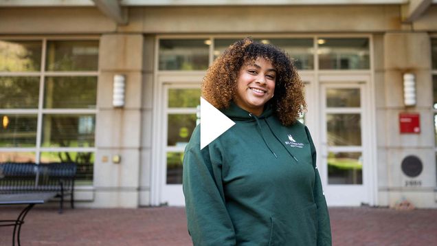
[[(158, 204), (185, 205), (182, 192), (183, 151), (192, 131), (199, 124), (201, 76), (162, 76), (159, 127), (157, 127), (158, 157), (155, 181), (152, 183)], [(154, 154), (155, 154), (154, 153)], [(156, 194), (156, 193), (155, 193)]]

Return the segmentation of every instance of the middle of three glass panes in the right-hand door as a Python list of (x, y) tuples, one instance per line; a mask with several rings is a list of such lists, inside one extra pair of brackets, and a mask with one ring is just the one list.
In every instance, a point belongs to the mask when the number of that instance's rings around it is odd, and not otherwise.
[(329, 146), (361, 146), (359, 113), (328, 113), (326, 119)]

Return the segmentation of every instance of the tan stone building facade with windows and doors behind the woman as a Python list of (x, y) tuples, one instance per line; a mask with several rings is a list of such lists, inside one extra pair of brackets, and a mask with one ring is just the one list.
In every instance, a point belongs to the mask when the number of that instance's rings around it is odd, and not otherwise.
[(202, 78), (251, 36), (295, 60), (328, 205), (437, 208), (436, 1), (13, 2), (0, 162), (76, 161), (78, 206), (183, 205)]

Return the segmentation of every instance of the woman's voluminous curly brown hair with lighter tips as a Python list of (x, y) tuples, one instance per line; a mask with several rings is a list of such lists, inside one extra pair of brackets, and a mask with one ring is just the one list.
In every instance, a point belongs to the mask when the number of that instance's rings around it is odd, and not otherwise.
[(244, 38), (230, 45), (208, 69), (202, 82), (202, 96), (217, 109), (226, 109), (236, 95), (240, 68), (257, 58), (276, 68), (274, 96), (267, 103), (284, 126), (293, 124), (306, 111), (304, 83), (289, 56), (273, 45)]

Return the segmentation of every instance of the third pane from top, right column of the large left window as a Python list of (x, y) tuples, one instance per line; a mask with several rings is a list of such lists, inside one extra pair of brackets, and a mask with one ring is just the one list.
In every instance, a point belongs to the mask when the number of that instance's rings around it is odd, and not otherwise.
[(43, 147), (93, 147), (96, 115), (44, 115)]

